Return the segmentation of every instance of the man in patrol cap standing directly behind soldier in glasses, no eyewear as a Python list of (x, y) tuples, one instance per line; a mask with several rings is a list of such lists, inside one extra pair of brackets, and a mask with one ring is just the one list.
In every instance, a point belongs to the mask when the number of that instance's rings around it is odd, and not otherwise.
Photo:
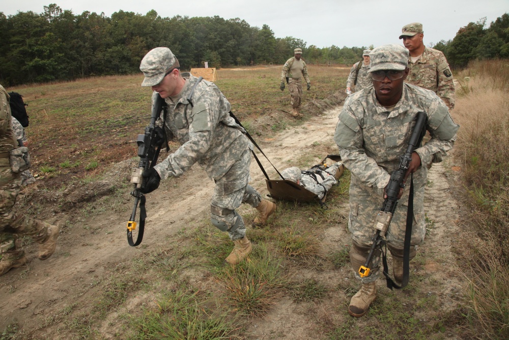
[(400, 39), (410, 51), (408, 65), (410, 73), (406, 82), (435, 92), (454, 109), (454, 82), (447, 59), (438, 49), (426, 47), (422, 42), (424, 32), (419, 22), (409, 23), (401, 30)]

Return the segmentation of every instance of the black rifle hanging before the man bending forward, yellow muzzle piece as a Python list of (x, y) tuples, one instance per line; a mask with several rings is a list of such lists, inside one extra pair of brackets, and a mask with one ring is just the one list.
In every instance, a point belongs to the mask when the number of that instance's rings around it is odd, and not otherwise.
[[(131, 171), (131, 183), (133, 184), (133, 191), (131, 196), (134, 197), (134, 206), (132, 208), (131, 219), (127, 222), (127, 242), (130, 246), (137, 246), (142, 243), (143, 232), (145, 229), (145, 219), (147, 218), (147, 211), (145, 210), (145, 195), (140, 189), (145, 187), (143, 181), (143, 173), (147, 172), (150, 168), (153, 168), (159, 157), (160, 147), (155, 145), (155, 122), (159, 117), (161, 111), (164, 110), (166, 113), (166, 104), (164, 99), (159, 94), (156, 96), (154, 106), (152, 107), (152, 115), (150, 117), (150, 123), (145, 128), (143, 135), (138, 135), (136, 143), (138, 144), (138, 156), (139, 164), (137, 168), (133, 168)], [(136, 242), (132, 240), (132, 231), (136, 229), (136, 209), (139, 203), (139, 230)]]

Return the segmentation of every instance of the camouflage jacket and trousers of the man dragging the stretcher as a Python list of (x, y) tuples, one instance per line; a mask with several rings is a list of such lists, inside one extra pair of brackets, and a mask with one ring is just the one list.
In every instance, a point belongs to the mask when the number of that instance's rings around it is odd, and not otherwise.
[[(230, 116), (230, 102), (217, 86), (206, 80), (197, 84), (192, 106), (187, 97), (198, 79), (189, 75), (179, 98), (166, 98), (166, 136), (181, 144), (174, 153), (154, 168), (165, 179), (178, 177), (194, 163), (207, 172), (216, 186), (211, 203), (213, 220), (225, 223), (230, 238), (245, 236), (243, 219), (235, 212), (241, 203), (258, 206), (261, 195), (248, 185), (251, 143), (244, 129)], [(157, 92), (154, 92), (153, 100)], [(160, 117), (158, 124), (162, 125)], [(234, 211), (232, 214), (231, 211)]]

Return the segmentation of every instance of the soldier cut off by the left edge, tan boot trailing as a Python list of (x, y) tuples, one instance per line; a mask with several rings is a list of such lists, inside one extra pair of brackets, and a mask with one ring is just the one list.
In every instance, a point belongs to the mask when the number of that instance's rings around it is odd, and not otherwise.
[(26, 163), (26, 147), (18, 147), (11, 122), (9, 94), (0, 85), (0, 275), (26, 264), (27, 258), (15, 236), (31, 236), (39, 243), (39, 259), (53, 254), (59, 228), (34, 220), (13, 209), (20, 190), (19, 172)]

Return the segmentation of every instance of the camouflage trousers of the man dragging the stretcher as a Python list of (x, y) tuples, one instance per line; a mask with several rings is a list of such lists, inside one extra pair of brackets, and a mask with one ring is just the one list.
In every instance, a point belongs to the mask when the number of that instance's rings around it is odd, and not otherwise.
[(229, 230), (232, 229), (232, 226), (236, 226), (235, 230), (228, 231), (232, 241), (241, 239), (246, 234), (244, 220), (235, 209), (242, 203), (257, 207), (262, 200), (260, 193), (248, 185), (250, 165), (251, 151), (246, 149), (230, 170), (216, 180), (210, 203), (212, 219), (224, 222)]

